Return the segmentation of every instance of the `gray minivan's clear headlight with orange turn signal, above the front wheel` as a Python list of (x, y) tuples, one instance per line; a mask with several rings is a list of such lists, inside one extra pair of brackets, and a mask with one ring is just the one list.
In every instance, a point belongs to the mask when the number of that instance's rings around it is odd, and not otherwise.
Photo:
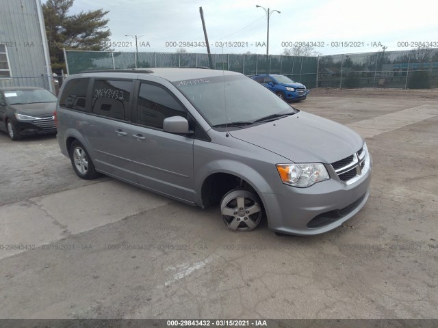
[(309, 187), (330, 178), (321, 163), (277, 164), (276, 169), (283, 183), (293, 187)]

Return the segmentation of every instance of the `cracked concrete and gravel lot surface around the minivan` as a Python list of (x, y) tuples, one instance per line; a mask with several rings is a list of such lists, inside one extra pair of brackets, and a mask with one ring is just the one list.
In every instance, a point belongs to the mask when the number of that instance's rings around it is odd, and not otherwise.
[(293, 104), (361, 133), (374, 161), (361, 212), (305, 238), (231, 232), (218, 208), (80, 180), (54, 136), (0, 133), (0, 318), (438, 318), (437, 100)]

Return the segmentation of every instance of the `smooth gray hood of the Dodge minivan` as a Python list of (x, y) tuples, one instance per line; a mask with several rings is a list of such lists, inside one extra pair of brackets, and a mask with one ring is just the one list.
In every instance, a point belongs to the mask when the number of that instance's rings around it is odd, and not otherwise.
[(363, 146), (350, 128), (303, 111), (229, 134), (295, 163), (334, 163)]

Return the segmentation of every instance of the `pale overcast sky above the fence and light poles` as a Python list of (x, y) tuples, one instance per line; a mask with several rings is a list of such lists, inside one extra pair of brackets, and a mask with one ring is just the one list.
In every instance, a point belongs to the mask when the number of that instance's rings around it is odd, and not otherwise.
[(431, 0), (75, 0), (70, 14), (110, 10), (114, 51), (136, 50), (128, 34), (141, 36), (138, 51), (207, 53), (202, 6), (211, 53), (266, 54), (266, 12), (256, 5), (281, 12), (270, 16), (270, 55), (281, 55), (296, 42), (315, 45), (321, 55), (382, 51), (383, 46), (410, 50), (417, 42), (438, 47), (438, 5)]

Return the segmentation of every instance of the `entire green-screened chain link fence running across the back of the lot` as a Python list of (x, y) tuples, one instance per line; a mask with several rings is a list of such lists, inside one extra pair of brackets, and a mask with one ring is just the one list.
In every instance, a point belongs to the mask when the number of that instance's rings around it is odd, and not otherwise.
[[(209, 67), (204, 53), (127, 53), (66, 51), (68, 74), (84, 70)], [(438, 49), (380, 51), (319, 57), (256, 54), (213, 54), (211, 66), (248, 76), (283, 74), (307, 87), (438, 87)]]

